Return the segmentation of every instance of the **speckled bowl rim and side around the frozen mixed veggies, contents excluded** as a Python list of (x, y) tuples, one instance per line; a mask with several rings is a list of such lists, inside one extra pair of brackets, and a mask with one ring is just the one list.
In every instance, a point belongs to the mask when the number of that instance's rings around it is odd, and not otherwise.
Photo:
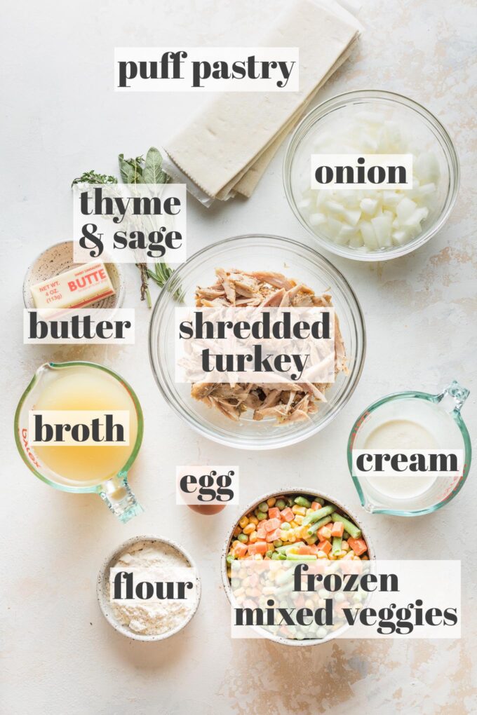
[[(255, 509), (262, 501), (267, 501), (267, 499), (270, 499), (272, 497), (278, 497), (280, 495), (288, 495), (288, 494), (303, 494), (303, 495), (310, 495), (310, 496), (315, 496), (315, 497), (320, 497), (323, 498), (325, 501), (330, 502), (330, 504), (335, 504), (335, 506), (340, 509), (340, 511), (343, 511), (346, 516), (349, 516), (352, 521), (354, 521), (355, 524), (359, 526), (361, 531), (363, 532), (363, 538), (368, 546), (368, 554), (370, 559), (375, 559), (375, 552), (373, 548), (373, 544), (370, 542), (369, 536), (365, 533), (365, 530), (363, 529), (363, 525), (360, 522), (358, 518), (356, 518), (355, 514), (353, 514), (352, 511), (348, 509), (347, 506), (344, 506), (342, 503), (340, 503), (337, 499), (334, 497), (330, 497), (328, 494), (323, 493), (322, 491), (317, 491), (315, 489), (307, 489), (300, 487), (299, 489), (297, 488), (290, 488), (290, 487), (285, 487), (284, 489), (274, 489), (272, 492), (268, 492), (267, 494), (262, 494), (262, 496), (258, 499), (255, 499), (255, 501), (252, 501), (247, 508), (244, 509), (244, 511), (240, 514), (240, 517), (238, 519), (235, 519), (235, 521), (232, 523), (232, 526), (230, 528), (229, 533), (227, 534), (227, 538), (225, 540), (224, 548), (222, 549), (222, 556), (221, 556), (221, 571), (222, 571), (222, 583), (224, 584), (225, 588), (225, 593), (227, 594), (227, 598), (230, 601), (230, 606), (232, 606), (232, 588), (230, 586), (230, 581), (229, 577), (227, 576), (227, 553), (229, 553), (229, 547), (230, 543), (233, 538), (233, 532), (237, 524), (239, 523), (240, 519), (242, 516), (245, 516), (246, 514), (249, 513), (249, 511), (252, 511)], [(294, 640), (293, 638), (285, 638), (284, 636), (277, 636), (275, 633), (270, 633), (269, 631), (262, 630), (258, 626), (252, 626), (254, 630), (257, 631), (257, 633), (260, 633), (260, 637), (262, 638), (267, 638), (269, 641), (275, 641), (275, 643), (280, 643), (284, 646), (301, 646), (307, 647), (307, 646), (319, 646), (320, 644), (327, 643), (328, 641), (332, 641), (333, 638), (336, 638), (338, 633), (342, 633), (343, 631), (348, 630), (349, 626), (342, 626), (338, 631), (335, 631), (333, 633), (329, 633), (328, 636), (325, 636), (325, 638), (307, 638), (303, 641), (300, 640)]]

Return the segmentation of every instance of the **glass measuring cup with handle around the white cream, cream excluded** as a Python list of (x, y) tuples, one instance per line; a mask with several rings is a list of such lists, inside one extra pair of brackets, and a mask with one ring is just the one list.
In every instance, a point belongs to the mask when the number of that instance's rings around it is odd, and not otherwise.
[[(471, 467), (471, 439), (461, 417), (461, 408), (468, 394), (466, 388), (453, 380), (438, 395), (415, 391), (394, 393), (381, 398), (360, 414), (348, 439), (348, 468), (365, 511), (420, 516), (440, 509), (458, 494)], [(384, 495), (367, 478), (358, 477), (353, 469), (353, 449), (365, 448), (368, 436), (385, 420), (403, 419), (431, 424), (439, 449), (462, 449), (462, 475), (441, 476), (424, 493), (410, 498)]]

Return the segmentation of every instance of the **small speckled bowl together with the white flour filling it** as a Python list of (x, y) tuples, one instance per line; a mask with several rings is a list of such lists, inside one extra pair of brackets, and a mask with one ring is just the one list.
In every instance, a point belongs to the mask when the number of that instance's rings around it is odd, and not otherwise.
[(136, 641), (162, 641), (182, 631), (197, 611), (200, 591), (192, 557), (162, 536), (124, 541), (104, 561), (97, 581), (104, 618)]

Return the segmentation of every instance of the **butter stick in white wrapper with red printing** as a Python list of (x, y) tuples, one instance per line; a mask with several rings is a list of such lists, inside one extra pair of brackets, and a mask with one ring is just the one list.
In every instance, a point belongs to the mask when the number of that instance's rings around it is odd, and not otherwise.
[(114, 295), (102, 261), (85, 263), (31, 287), (37, 308), (79, 308)]

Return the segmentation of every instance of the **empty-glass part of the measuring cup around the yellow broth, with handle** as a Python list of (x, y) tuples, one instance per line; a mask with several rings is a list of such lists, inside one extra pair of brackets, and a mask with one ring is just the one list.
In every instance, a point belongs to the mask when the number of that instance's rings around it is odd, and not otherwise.
[[(46, 464), (46, 460), (41, 456), (42, 450), (46, 448), (41, 446), (36, 449), (30, 444), (29, 440), (29, 411), (34, 409), (44, 409), (43, 406), (38, 407), (39, 400), (43, 398), (45, 391), (56, 383), (56, 381), (64, 376), (68, 375), (69, 378), (74, 378), (75, 373), (71, 372), (76, 370), (79, 371), (87, 370), (99, 370), (100, 373), (92, 373), (97, 381), (98, 385), (102, 380), (116, 380), (119, 385), (124, 388), (124, 399), (127, 400), (128, 405), (132, 405), (134, 410), (134, 426), (136, 431), (136, 437), (134, 440), (134, 445), (132, 446), (132, 451), (129, 456), (125, 457), (125, 463), (119, 468), (116, 473), (111, 476), (107, 476), (104, 479), (99, 480), (99, 478), (69, 478), (60, 473), (56, 473), (53, 468)], [(94, 385), (94, 383), (92, 383)], [(117, 390), (116, 383), (106, 383), (107, 387)], [(119, 390), (119, 394), (122, 394)], [(95, 394), (96, 400), (101, 396), (99, 391)], [(106, 406), (96, 405), (92, 406), (90, 409), (107, 409)], [(112, 409), (112, 408), (109, 408)], [(137, 502), (136, 497), (132, 493), (129, 484), (127, 483), (127, 473), (132, 466), (137, 453), (139, 452), (139, 447), (142, 443), (142, 435), (144, 431), (144, 420), (142, 417), (141, 405), (139, 405), (139, 400), (134, 390), (128, 385), (128, 383), (123, 380), (117, 373), (114, 373), (108, 368), (104, 368), (103, 365), (97, 365), (96, 363), (86, 363), (86, 362), (70, 362), (70, 363), (45, 363), (41, 365), (36, 373), (34, 374), (31, 383), (26, 388), (19, 405), (16, 408), (15, 420), (14, 420), (14, 430), (15, 430), (15, 440), (16, 447), (19, 450), (21, 458), (26, 463), (27, 467), (34, 473), (36, 477), (44, 481), (46, 484), (54, 487), (55, 489), (60, 489), (62, 491), (73, 492), (73, 493), (97, 493), (107, 504), (109, 509), (111, 509), (114, 516), (117, 516), (123, 523), (129, 521), (130, 518), (142, 513), (142, 506)], [(51, 449), (51, 447), (49, 448)], [(86, 449), (80, 446), (78, 447), (57, 447), (59, 450), (81, 450)], [(104, 450), (104, 447), (94, 446), (90, 448), (92, 450)], [(117, 449), (116, 447), (112, 448)], [(120, 447), (124, 449), (124, 447)], [(72, 453), (70, 453), (72, 454)], [(78, 452), (76, 452), (78, 454)]]

